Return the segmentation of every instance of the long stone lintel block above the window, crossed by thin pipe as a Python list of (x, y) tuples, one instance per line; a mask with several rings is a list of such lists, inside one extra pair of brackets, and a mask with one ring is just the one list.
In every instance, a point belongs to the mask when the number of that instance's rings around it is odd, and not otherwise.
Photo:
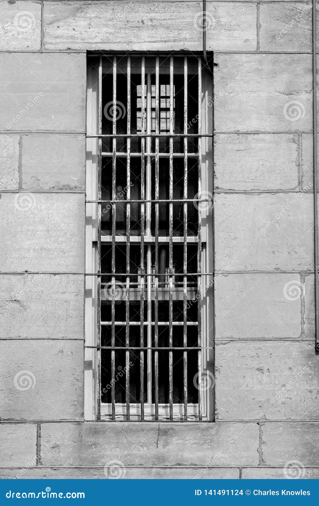
[[(255, 51), (256, 4), (207, 3), (207, 49)], [(200, 2), (50, 2), (44, 47), (51, 50), (202, 50)]]

